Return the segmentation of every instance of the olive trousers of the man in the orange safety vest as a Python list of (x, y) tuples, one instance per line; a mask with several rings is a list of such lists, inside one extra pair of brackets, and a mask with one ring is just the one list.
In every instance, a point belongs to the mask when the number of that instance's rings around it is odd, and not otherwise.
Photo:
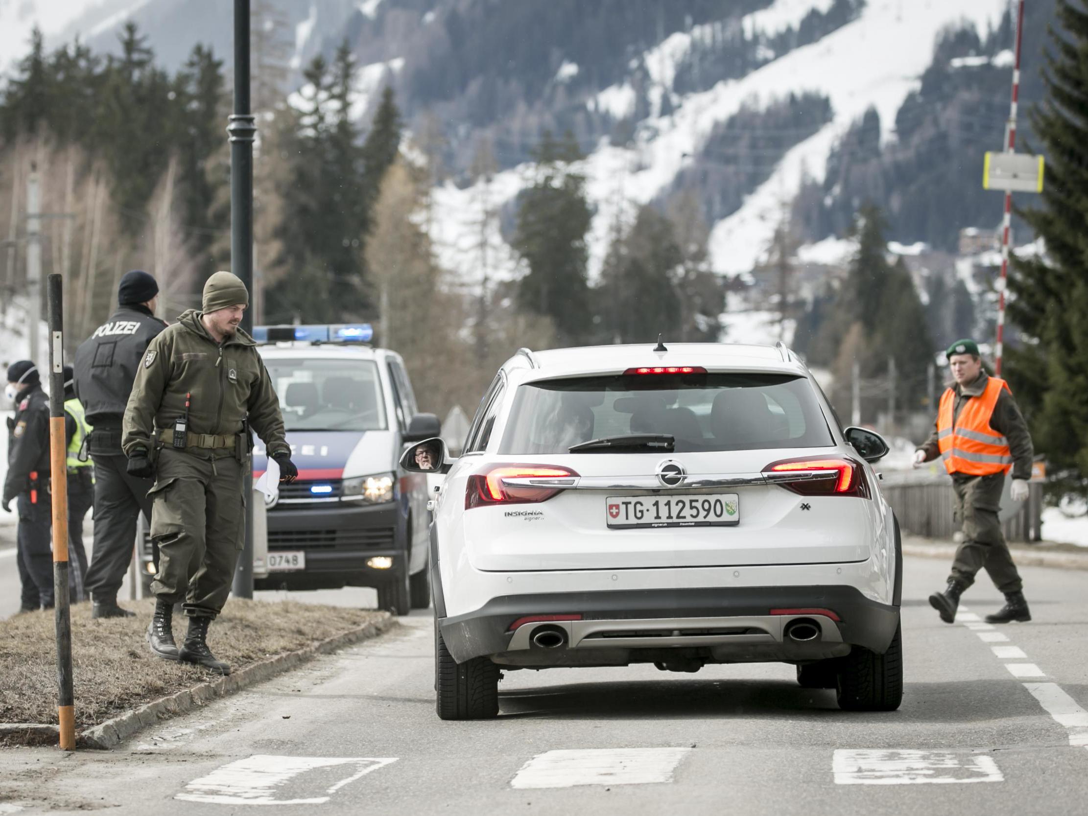
[(998, 518), (1004, 485), (1004, 473), (988, 477), (956, 473), (952, 477), (955, 518), (963, 532), (963, 542), (952, 561), (951, 577), (964, 586), (975, 582), (980, 569), (989, 573), (1001, 592), (1019, 592), (1024, 586)]

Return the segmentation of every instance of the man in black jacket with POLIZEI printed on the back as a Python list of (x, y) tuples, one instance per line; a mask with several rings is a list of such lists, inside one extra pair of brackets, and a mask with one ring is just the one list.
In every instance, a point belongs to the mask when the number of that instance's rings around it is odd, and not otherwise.
[(94, 428), (88, 452), (95, 460), (95, 545), (86, 589), (91, 617), (131, 617), (118, 606), (118, 590), (132, 561), (136, 518), (151, 523), (151, 479), (129, 475), (121, 449), (121, 419), (148, 344), (166, 327), (154, 317), (159, 284), (134, 270), (121, 279), (118, 310), (75, 354), (75, 395)]

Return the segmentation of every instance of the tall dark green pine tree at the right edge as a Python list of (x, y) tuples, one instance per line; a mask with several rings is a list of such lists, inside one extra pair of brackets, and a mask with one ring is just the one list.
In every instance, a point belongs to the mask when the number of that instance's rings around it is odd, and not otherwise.
[[(1053, 470), (1088, 474), (1088, 10), (1058, 0), (1043, 81), (1047, 97), (1031, 124), (1047, 156), (1041, 206), (1023, 213), (1046, 255), (1013, 258), (1010, 317), (1028, 338), (1007, 350), (1006, 373), (1028, 418), (1037, 452)], [(1080, 490), (1084, 486), (1080, 485)]]

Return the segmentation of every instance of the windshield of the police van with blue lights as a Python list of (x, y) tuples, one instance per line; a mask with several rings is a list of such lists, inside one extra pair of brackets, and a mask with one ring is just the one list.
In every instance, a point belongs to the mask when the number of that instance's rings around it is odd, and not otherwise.
[(371, 360), (265, 359), (288, 431), (384, 431), (385, 400)]

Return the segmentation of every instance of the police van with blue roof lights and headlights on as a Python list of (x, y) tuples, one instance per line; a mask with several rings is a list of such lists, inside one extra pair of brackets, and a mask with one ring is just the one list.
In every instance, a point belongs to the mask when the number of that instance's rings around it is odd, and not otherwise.
[[(268, 551), (255, 541), (255, 589), (373, 586), (382, 609), (428, 607), (426, 477), (398, 461), (406, 444), (442, 428), (419, 412), (404, 360), (371, 345), (368, 324), (255, 326), (252, 336), (298, 468), (265, 503)], [(260, 440), (252, 465), (256, 481), (268, 467)]]

